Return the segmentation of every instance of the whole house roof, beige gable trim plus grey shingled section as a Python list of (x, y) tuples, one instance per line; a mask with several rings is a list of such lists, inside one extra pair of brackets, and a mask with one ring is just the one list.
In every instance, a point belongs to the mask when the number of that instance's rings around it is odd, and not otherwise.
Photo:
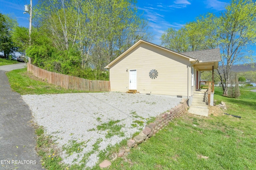
[[(171, 53), (175, 53), (177, 55), (180, 55), (182, 57), (186, 57), (188, 59), (190, 59), (190, 61), (197, 61), (199, 63), (199, 61), (202, 61), (202, 63), (205, 62), (213, 62), (213, 61), (220, 61), (220, 49), (208, 49), (208, 50), (201, 50), (201, 51), (191, 51), (191, 52), (184, 52), (184, 53), (178, 53), (176, 51), (172, 51), (170, 49), (167, 49), (165, 47), (162, 47), (160, 45), (156, 45), (154, 43), (150, 43), (148, 41), (145, 41), (143, 39), (138, 40), (134, 45), (132, 45), (132, 47), (130, 47), (129, 49), (127, 49), (126, 51), (124, 51), (124, 53), (122, 53), (120, 56), (118, 56), (116, 59), (114, 59), (114, 61), (112, 61), (111, 63), (109, 63), (106, 67), (104, 68), (110, 68), (110, 66), (114, 63), (116, 63), (118, 60), (120, 60), (122, 57), (124, 57), (124, 55), (126, 55), (129, 51), (131, 51), (132, 49), (134, 49), (135, 47), (137, 47), (140, 43), (147, 43), (149, 45), (158, 47), (160, 49), (169, 51)], [(201, 62), (200, 62), (201, 63)]]

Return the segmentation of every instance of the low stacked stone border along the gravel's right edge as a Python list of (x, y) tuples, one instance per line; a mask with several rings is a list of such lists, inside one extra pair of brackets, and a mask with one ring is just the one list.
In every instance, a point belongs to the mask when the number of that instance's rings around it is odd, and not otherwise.
[(139, 135), (127, 141), (128, 147), (137, 147), (138, 144), (147, 141), (150, 137), (158, 133), (164, 126), (168, 125), (172, 119), (180, 117), (180, 115), (188, 109), (187, 100), (188, 99), (182, 99), (178, 106), (175, 106), (166, 113), (157, 115), (154, 123), (149, 123)]

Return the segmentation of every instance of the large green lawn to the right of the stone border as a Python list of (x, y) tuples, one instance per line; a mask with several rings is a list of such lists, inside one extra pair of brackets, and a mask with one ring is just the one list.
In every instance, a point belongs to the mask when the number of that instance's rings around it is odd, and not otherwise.
[(242, 91), (234, 99), (217, 88), (214, 99), (226, 102), (226, 113), (242, 118), (182, 115), (108, 169), (256, 169), (256, 93)]

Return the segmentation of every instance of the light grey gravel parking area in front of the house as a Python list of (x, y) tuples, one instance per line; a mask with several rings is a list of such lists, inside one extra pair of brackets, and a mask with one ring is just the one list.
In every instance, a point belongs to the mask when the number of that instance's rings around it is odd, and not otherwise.
[[(130, 138), (145, 127), (150, 117), (177, 106), (181, 101), (170, 96), (120, 92), (23, 95), (22, 98), (32, 110), (34, 121), (54, 137), (59, 148), (71, 145), (73, 140), (86, 142), (81, 152), (69, 156), (64, 150), (61, 155), (64, 163), (79, 164), (90, 152), (87, 167), (97, 163), (100, 150)], [(110, 121), (122, 126), (120, 133), (112, 137), (108, 136), (111, 129), (97, 130), (99, 125)], [(99, 143), (98, 149), (94, 147), (96, 142)]]

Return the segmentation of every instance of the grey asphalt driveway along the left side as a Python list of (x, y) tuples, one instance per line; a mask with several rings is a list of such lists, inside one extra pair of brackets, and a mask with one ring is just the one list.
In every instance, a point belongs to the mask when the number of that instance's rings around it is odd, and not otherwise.
[(12, 92), (6, 70), (26, 63), (0, 66), (0, 170), (40, 170), (31, 111), (20, 94)]

